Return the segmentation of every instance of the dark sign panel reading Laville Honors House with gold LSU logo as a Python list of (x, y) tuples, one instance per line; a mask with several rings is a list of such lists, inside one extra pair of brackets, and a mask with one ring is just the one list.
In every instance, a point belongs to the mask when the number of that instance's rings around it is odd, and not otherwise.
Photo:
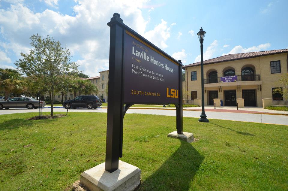
[(179, 64), (124, 32), (124, 103), (179, 103)]

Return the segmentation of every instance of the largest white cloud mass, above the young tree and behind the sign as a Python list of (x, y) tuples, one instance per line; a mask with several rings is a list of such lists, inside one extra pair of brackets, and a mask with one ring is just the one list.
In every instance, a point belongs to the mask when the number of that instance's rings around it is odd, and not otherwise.
[[(58, 4), (57, 0), (42, 1), (48, 5)], [(5, 10), (0, 9), (0, 33), (5, 39), (4, 42), (0, 41), (0, 47), (3, 47), (5, 52), (14, 52), (18, 59), (21, 58), (21, 52), (27, 53), (32, 48), (29, 39), (31, 35), (50, 35), (63, 46), (67, 44), (84, 73), (96, 76), (98, 70), (108, 69), (110, 28), (107, 22), (113, 13), (119, 13), (126, 25), (156, 46), (163, 49), (168, 47), (166, 42), (176, 23), (169, 25), (161, 20), (154, 29), (147, 31), (149, 18), (144, 19), (141, 11), (146, 2), (147, 0), (78, 0), (78, 4), (73, 7), (74, 16), (49, 9), (34, 13), (21, 3), (13, 4)]]

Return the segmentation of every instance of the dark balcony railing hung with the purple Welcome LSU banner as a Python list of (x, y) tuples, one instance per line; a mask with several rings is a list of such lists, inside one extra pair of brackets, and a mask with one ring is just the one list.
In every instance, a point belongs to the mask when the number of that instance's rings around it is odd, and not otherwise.
[[(228, 77), (226, 77), (226, 78), (228, 78)], [(260, 80), (260, 75), (259, 74), (238, 75), (238, 76), (235, 76), (235, 77), (230, 77), (230, 79), (231, 79), (231, 81), (224, 80), (223, 77), (208, 78), (208, 79), (204, 79), (204, 84), (207, 84), (207, 83), (219, 83), (219, 82), (234, 82), (234, 81), (259, 81)]]

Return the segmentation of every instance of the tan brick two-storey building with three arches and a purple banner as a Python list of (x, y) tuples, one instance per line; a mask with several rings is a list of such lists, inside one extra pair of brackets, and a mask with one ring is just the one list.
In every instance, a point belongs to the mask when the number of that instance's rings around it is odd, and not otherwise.
[[(200, 64), (183, 66), (188, 92), (185, 99), (201, 99)], [(265, 98), (281, 100), (282, 95), (272, 91), (279, 87), (277, 81), (287, 73), (287, 65), (288, 49), (229, 54), (205, 60), (205, 105), (213, 105), (214, 98), (222, 100), (224, 106), (236, 106), (237, 98), (244, 99), (244, 106), (258, 107), (262, 107)]]

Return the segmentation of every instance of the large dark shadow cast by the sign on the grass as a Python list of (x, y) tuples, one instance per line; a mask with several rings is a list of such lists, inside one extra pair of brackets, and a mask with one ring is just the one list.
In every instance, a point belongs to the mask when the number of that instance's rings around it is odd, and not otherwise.
[(189, 190), (204, 157), (190, 144), (181, 146), (137, 190)]

